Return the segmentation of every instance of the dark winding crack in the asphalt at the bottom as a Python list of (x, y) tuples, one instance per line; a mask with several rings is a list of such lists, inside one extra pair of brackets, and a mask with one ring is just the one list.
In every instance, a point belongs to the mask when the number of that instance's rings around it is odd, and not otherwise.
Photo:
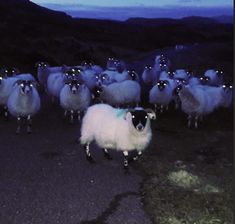
[(112, 215), (116, 209), (119, 207), (120, 202), (123, 198), (127, 196), (139, 196), (140, 194), (138, 192), (132, 192), (128, 191), (122, 194), (115, 195), (115, 197), (110, 202), (108, 208), (104, 210), (97, 218), (92, 220), (83, 220), (78, 224), (105, 224), (107, 218)]

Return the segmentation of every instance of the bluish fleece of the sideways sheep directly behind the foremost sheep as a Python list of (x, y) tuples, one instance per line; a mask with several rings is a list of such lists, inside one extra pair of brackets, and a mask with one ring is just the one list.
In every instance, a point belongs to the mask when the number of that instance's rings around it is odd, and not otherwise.
[(102, 85), (99, 89), (101, 102), (106, 102), (112, 106), (138, 105), (141, 96), (140, 84), (136, 81), (125, 80), (109, 85)]

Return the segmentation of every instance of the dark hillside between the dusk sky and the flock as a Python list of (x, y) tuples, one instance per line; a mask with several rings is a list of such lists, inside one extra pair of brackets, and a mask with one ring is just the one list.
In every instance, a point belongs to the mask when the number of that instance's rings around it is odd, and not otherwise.
[(29, 0), (0, 0), (0, 67), (28, 68), (38, 60), (104, 64), (107, 57), (130, 59), (178, 43), (233, 40), (233, 25), (214, 19), (133, 18), (127, 21), (74, 19)]

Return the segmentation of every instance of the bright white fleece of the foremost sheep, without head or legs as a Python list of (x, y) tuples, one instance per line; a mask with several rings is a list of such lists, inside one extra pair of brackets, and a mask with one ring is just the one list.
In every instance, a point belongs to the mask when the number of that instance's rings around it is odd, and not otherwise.
[(81, 144), (95, 141), (101, 148), (121, 151), (144, 150), (152, 132), (148, 118), (145, 129), (138, 132), (132, 124), (131, 115), (117, 116), (118, 109), (107, 104), (96, 104), (88, 108), (81, 127)]

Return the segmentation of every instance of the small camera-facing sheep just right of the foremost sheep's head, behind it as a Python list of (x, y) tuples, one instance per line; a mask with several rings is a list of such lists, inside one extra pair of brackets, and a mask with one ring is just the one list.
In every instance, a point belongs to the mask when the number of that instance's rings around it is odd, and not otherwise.
[(164, 108), (167, 110), (169, 103), (173, 100), (173, 80), (159, 80), (149, 92), (149, 103), (154, 105), (155, 112), (160, 107), (162, 113)]

